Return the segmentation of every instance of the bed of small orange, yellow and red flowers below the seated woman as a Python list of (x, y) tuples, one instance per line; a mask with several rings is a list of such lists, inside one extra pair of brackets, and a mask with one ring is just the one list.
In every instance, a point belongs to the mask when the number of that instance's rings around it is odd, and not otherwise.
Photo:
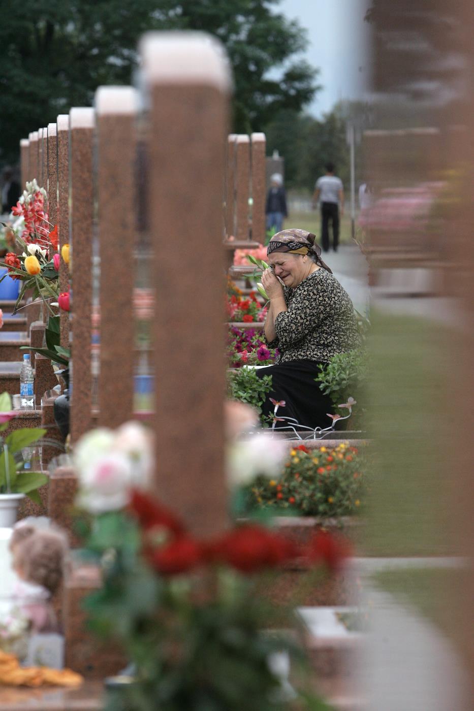
[(260, 476), (246, 490), (246, 506), (270, 509), (275, 515), (352, 515), (364, 500), (365, 471), (364, 456), (347, 442), (317, 451), (300, 444), (290, 450), (279, 478)]

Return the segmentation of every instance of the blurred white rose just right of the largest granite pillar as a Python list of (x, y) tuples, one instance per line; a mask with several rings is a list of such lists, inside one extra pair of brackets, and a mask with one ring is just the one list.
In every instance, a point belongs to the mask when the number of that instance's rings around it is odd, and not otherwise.
[(270, 439), (263, 433), (236, 442), (227, 453), (228, 481), (231, 486), (242, 486), (258, 475), (278, 477), (286, 456), (288, 443), (284, 439)]

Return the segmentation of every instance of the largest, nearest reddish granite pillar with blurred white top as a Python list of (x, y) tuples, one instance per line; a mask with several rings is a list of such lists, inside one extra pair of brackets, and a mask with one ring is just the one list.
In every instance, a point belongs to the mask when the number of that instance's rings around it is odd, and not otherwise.
[[(211, 38), (181, 33), (149, 33), (141, 44), (156, 289), (154, 490), (199, 535), (226, 525), (218, 245), (230, 77), (222, 52)], [(186, 254), (193, 245), (195, 258)]]

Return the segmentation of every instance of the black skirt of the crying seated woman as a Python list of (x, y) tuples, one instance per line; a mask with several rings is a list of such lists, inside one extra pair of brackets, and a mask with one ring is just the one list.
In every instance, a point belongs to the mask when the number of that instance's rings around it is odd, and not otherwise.
[[(277, 417), (294, 417), (298, 424), (307, 427), (330, 427), (332, 419), (327, 413), (334, 413), (334, 406), (329, 395), (324, 395), (320, 384), (315, 378), (320, 371), (318, 366), (324, 365), (315, 360), (291, 360), (290, 363), (269, 365), (268, 368), (258, 368), (259, 378), (272, 376), (272, 390), (263, 403), (264, 415), (273, 415), (274, 405), (270, 401), (285, 400), (285, 407), (279, 407)], [(276, 422), (275, 427), (285, 427), (285, 422)]]

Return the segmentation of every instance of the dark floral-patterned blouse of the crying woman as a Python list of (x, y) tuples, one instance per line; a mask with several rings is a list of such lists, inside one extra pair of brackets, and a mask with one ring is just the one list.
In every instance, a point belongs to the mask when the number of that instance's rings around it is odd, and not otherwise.
[(295, 289), (283, 287), (288, 311), (275, 319), (276, 338), (267, 346), (278, 348), (276, 363), (316, 360), (327, 363), (336, 353), (359, 348), (361, 338), (354, 306), (337, 279), (322, 267)]

